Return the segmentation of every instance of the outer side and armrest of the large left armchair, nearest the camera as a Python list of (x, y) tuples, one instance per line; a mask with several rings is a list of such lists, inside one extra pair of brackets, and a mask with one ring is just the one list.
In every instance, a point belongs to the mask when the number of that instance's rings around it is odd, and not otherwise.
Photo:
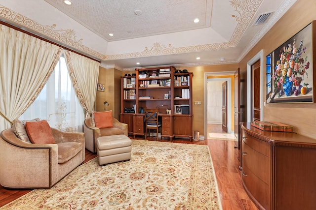
[(0, 134), (0, 160), (0, 184), (4, 187), (50, 188), (58, 181), (58, 146), (25, 143), (12, 128)]

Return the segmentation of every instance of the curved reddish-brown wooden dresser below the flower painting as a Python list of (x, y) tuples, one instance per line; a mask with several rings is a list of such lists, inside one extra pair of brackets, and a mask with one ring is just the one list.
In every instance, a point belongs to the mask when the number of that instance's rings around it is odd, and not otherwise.
[(316, 210), (316, 139), (244, 122), (242, 184), (259, 209)]

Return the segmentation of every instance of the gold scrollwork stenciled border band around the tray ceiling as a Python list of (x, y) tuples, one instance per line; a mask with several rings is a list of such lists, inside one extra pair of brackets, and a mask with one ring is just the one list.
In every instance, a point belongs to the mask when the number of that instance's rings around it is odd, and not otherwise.
[[(76, 39), (76, 32), (74, 30), (55, 30), (56, 25), (53, 26), (42, 26), (39, 23), (19, 14), (11, 9), (0, 5), (0, 17), (2, 16), (4, 19), (7, 19), (11, 22), (17, 23), (18, 25), (22, 25), (25, 28), (31, 29), (44, 35), (45, 37), (49, 37), (50, 39), (54, 39), (57, 42), (61, 42), (66, 44), (72, 49), (77, 49), (80, 52), (83, 52), (87, 55), (91, 55), (100, 60), (119, 60), (119, 59), (131, 59), (131, 58), (140, 58), (140, 57), (150, 57), (150, 56), (160, 56), (160, 55), (172, 55), (172, 54), (182, 54), (182, 53), (192, 53), (199, 51), (209, 51), (209, 50), (217, 50), (217, 49), (227, 49), (233, 48), (239, 42), (242, 34), (248, 27), (253, 15), (259, 8), (261, 2), (263, 0), (232, 0), (231, 6), (236, 8), (236, 12), (239, 14), (237, 20), (237, 27), (233, 32), (233, 35), (229, 42), (224, 43), (214, 43), (214, 44), (205, 44), (205, 45), (196, 45), (189, 47), (179, 47), (175, 48), (169, 44), (168, 47), (163, 46), (160, 43), (155, 43), (153, 47), (148, 49), (145, 47), (145, 50), (142, 52), (135, 53), (126, 53), (126, 54), (118, 54), (118, 55), (102, 55), (99, 52), (96, 52), (86, 46), (84, 46), (80, 40)], [(232, 15), (234, 16), (234, 15)]]

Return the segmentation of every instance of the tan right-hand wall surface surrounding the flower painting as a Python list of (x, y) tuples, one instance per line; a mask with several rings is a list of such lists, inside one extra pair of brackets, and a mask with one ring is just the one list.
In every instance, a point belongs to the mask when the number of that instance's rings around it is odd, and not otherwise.
[[(311, 23), (311, 21), (316, 20), (315, 10), (315, 0), (297, 0), (276, 25), (269, 30), (258, 44), (239, 62), (240, 71), (246, 71), (247, 62), (260, 50), (264, 50), (264, 56), (268, 55)], [(262, 61), (265, 63), (265, 58)], [(314, 63), (314, 65), (316, 65), (316, 63)], [(266, 84), (265, 78), (264, 84)], [(266, 92), (266, 90), (264, 90), (264, 92)], [(266, 107), (263, 107), (263, 110), (265, 121), (287, 123), (294, 126), (295, 132), (316, 138), (316, 104), (267, 104)]]

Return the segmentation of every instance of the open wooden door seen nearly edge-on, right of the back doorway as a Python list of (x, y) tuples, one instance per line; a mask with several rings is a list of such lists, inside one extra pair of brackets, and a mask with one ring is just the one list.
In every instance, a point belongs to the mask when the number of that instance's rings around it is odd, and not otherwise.
[(240, 87), (240, 79), (239, 79), (239, 68), (234, 74), (234, 133), (235, 133), (235, 148), (240, 148), (240, 141), (239, 141), (239, 135), (240, 135), (240, 109), (239, 109), (239, 87)]

